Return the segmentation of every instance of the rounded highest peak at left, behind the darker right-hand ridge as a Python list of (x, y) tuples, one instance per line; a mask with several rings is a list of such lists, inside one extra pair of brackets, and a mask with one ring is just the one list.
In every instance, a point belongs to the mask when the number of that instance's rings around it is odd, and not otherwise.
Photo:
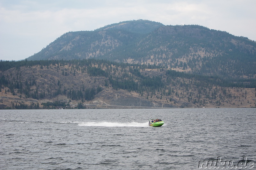
[(93, 57), (113, 60), (109, 57), (112, 51), (135, 47), (135, 43), (141, 36), (144, 37), (145, 34), (161, 26), (163, 24), (157, 22), (137, 20), (111, 24), (95, 31), (68, 32), (39, 53), (28, 57), (28, 60), (70, 60)]

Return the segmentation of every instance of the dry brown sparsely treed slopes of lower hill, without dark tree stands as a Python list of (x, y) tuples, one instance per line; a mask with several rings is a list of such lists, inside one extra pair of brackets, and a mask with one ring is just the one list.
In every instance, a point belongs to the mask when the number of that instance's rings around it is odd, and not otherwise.
[[(95, 63), (92, 67), (98, 68)], [(112, 67), (112, 68), (111, 68)], [(125, 73), (132, 75), (128, 67), (123, 69), (111, 65), (100, 65), (102, 70), (109, 70), (110, 74), (122, 77)], [(82, 67), (76, 65), (50, 65), (20, 67), (9, 69), (3, 75), (13, 84), (28, 88), (28, 94), (14, 89), (3, 87), (0, 92), (0, 108), (14, 108), (19, 105), (38, 106), (47, 101), (60, 101), (69, 103), (70, 108), (77, 106), (79, 102), (86, 104), (87, 108), (128, 108), (137, 107), (255, 107), (256, 92), (254, 88), (231, 88), (210, 86), (209, 88), (196, 87), (196, 80), (186, 78), (174, 78), (171, 81), (165, 76), (165, 69), (140, 70), (142, 75), (153, 77), (162, 76), (164, 88), (154, 92), (136, 92), (123, 89), (113, 89), (109, 80), (103, 76), (90, 76), (82, 71)], [(135, 78), (135, 77), (134, 77)], [(135, 81), (138, 81), (135, 79)], [(107, 82), (107, 85), (106, 85)], [(17, 84), (15, 84), (17, 83)], [(26, 86), (27, 84), (27, 86)], [(180, 86), (185, 84), (186, 87)], [(26, 87), (25, 87), (26, 86)], [(68, 93), (81, 91), (85, 95), (86, 89), (101, 88), (92, 100), (72, 99)], [(65, 92), (64, 92), (65, 91)], [(170, 91), (170, 92), (169, 92)], [(35, 97), (34, 95), (38, 95)], [(33, 97), (34, 96), (34, 97)], [(40, 98), (41, 96), (41, 98)], [(37, 104), (38, 103), (38, 104)], [(101, 106), (102, 105), (102, 106)], [(120, 107), (113, 107), (120, 106)], [(122, 106), (122, 107), (121, 107)]]

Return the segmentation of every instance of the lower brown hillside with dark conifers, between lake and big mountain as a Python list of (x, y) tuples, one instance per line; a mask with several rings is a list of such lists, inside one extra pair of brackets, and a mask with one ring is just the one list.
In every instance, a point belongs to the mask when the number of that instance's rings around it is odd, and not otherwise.
[[(255, 79), (107, 60), (1, 61), (0, 107), (255, 107)], [(87, 105), (84, 105), (87, 104)]]

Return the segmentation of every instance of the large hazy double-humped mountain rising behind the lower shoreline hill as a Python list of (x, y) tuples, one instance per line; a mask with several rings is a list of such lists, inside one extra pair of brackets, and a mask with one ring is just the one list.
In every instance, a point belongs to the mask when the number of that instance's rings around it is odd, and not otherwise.
[(256, 42), (198, 25), (124, 21), (65, 33), (28, 60), (107, 59), (222, 78), (255, 78)]

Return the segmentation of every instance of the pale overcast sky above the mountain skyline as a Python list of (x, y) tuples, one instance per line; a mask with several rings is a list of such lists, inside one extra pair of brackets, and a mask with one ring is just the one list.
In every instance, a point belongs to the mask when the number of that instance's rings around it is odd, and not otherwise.
[(21, 60), (69, 31), (127, 20), (206, 26), (256, 41), (256, 0), (0, 0), (0, 59)]

